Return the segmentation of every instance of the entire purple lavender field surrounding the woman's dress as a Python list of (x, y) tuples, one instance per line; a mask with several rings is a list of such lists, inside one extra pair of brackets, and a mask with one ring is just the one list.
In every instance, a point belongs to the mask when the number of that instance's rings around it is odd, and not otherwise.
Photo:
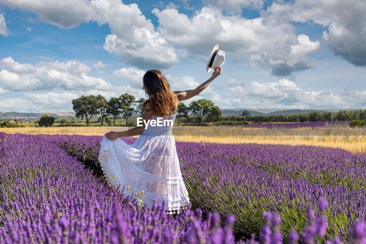
[(1, 243), (365, 241), (366, 154), (176, 142), (192, 206), (167, 215), (107, 186), (101, 138), (0, 133)]

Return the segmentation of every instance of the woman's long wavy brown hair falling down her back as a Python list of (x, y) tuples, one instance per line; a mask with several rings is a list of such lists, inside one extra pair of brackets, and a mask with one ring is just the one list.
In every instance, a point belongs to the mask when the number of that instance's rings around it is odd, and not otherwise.
[[(141, 104), (140, 108), (145, 110), (146, 103), (150, 101), (151, 106), (155, 108), (156, 116), (166, 119), (170, 114), (170, 108), (175, 105), (176, 95), (170, 89), (167, 78), (160, 70), (146, 71), (142, 78), (143, 85), (149, 94), (149, 98)], [(149, 111), (149, 110), (147, 110)]]

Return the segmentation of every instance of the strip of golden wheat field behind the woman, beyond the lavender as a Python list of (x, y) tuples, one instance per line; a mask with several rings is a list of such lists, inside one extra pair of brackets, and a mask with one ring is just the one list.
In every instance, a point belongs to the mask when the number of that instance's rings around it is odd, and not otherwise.
[[(102, 136), (109, 131), (128, 129), (131, 127), (20, 127), (0, 128), (0, 132)], [(366, 129), (351, 128), (348, 125), (270, 129), (242, 126), (174, 126), (172, 132), (176, 141), (314, 145), (366, 152)]]

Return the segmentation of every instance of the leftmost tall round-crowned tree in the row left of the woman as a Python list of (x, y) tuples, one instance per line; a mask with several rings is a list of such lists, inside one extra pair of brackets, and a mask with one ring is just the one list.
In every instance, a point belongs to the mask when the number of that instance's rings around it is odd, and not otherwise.
[[(94, 95), (81, 96), (79, 98), (72, 100), (72, 109), (75, 111), (76, 118), (84, 118), (86, 120), (86, 125), (89, 126), (89, 120), (93, 115), (97, 115), (98, 99)], [(90, 117), (89, 117), (90, 116)]]

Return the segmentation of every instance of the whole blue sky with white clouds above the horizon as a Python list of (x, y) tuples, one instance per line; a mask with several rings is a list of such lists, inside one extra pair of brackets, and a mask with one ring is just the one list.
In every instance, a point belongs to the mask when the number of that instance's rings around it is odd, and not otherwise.
[(147, 98), (161, 70), (219, 108), (366, 108), (364, 0), (0, 0), (0, 112), (73, 112), (72, 99)]

